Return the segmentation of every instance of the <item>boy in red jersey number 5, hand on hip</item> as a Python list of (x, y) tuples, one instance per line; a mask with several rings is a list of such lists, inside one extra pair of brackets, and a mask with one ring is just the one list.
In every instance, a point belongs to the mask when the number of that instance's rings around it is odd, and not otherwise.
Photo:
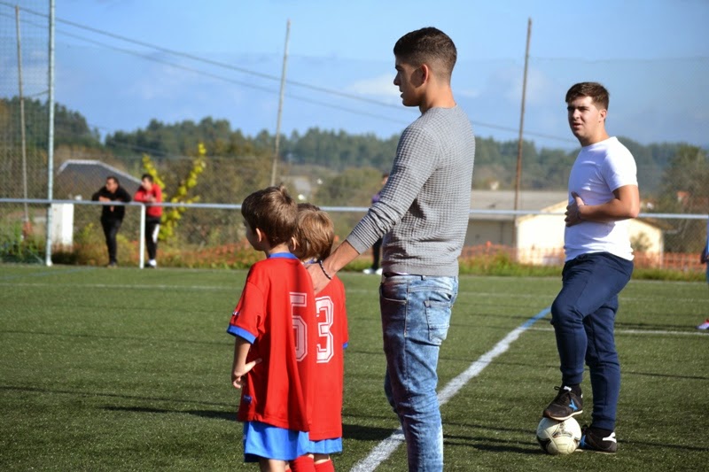
[(231, 383), (241, 389), (245, 461), (283, 471), (288, 460), (308, 452), (308, 379), (316, 360), (315, 337), (308, 337), (315, 321), (313, 285), (289, 251), (298, 206), (284, 187), (249, 195), (241, 213), (246, 239), (267, 259), (249, 270), (227, 329), (236, 337)]

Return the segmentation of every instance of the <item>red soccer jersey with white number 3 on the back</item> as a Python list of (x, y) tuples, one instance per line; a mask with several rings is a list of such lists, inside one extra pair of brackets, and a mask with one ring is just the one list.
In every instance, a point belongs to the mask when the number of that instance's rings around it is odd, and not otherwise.
[(345, 286), (337, 276), (316, 295), (315, 406), (311, 441), (342, 437), (342, 388), (347, 346)]

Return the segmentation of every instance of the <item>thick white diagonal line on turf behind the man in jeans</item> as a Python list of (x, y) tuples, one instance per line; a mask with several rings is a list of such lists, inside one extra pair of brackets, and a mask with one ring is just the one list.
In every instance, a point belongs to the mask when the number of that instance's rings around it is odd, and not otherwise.
[[(450, 398), (453, 398), (456, 393), (465, 386), (466, 383), (470, 382), (473, 377), (479, 375), (479, 373), (482, 372), (484, 368), (487, 368), (487, 366), (489, 366), (490, 363), (497, 356), (510, 349), (510, 344), (514, 343), (517, 338), (527, 329), (530, 329), (536, 321), (539, 321), (541, 320), (541, 318), (546, 316), (549, 313), (550, 309), (551, 307), (547, 306), (546, 308), (541, 310), (541, 312), (535, 314), (532, 318), (525, 321), (524, 324), (522, 324), (518, 328), (512, 329), (506, 337), (503, 337), (500, 342), (495, 344), (495, 347), (481, 355), (479, 359), (473, 362), (469, 368), (465, 369), (462, 374), (459, 374), (458, 376), (456, 376), (456, 378), (448, 382), (448, 385), (443, 387), (443, 390), (438, 392), (438, 401), (440, 406), (443, 406), (448, 403), (448, 400)], [(372, 449), (370, 455), (354, 464), (351, 470), (353, 472), (370, 472), (371, 470), (374, 470), (379, 466), (379, 464), (387, 460), (389, 456), (391, 456), (392, 453), (396, 450), (396, 448), (399, 447), (399, 445), (401, 445), (401, 443), (403, 442), (403, 431), (401, 430), (401, 428), (396, 429), (395, 431), (393, 431), (390, 437), (387, 437), (384, 441), (382, 441), (374, 449)]]

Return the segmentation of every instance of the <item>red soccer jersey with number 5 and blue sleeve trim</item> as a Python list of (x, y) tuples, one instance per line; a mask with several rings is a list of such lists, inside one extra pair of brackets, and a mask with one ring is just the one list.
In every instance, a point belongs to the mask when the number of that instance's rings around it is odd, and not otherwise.
[(261, 359), (242, 388), (239, 421), (310, 429), (314, 308), (313, 283), (295, 256), (277, 253), (253, 264), (227, 329), (252, 343), (247, 361)]

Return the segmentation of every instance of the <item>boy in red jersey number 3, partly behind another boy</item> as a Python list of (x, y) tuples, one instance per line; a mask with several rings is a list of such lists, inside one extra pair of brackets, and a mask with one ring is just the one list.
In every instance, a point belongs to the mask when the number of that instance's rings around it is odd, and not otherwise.
[[(330, 215), (315, 205), (298, 205), (296, 245), (292, 250), (306, 264), (317, 264), (330, 255), (335, 238)], [(342, 383), (344, 348), (347, 347), (345, 287), (332, 277), (316, 294), (317, 361), (314, 390), (317, 401), (310, 425), (308, 454), (291, 461), (293, 472), (334, 471), (331, 453), (342, 452)]]

